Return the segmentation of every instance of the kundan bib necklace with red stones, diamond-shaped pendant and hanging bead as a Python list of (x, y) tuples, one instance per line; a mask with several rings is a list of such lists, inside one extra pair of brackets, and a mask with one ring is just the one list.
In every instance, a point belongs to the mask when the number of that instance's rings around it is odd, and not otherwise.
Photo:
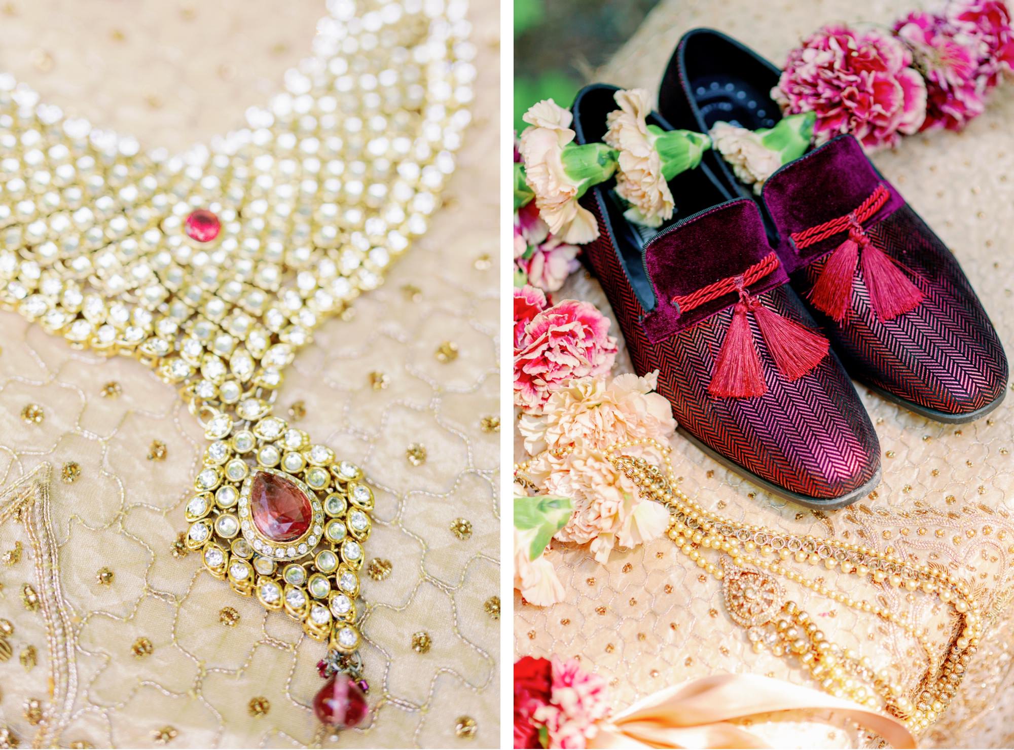
[(0, 75), (0, 304), (177, 386), (209, 444), (185, 543), (327, 642), (317, 718), (363, 720), (373, 493), (273, 414), (312, 330), (427, 229), (469, 122), (464, 0), (329, 0), (313, 56), (247, 126), (170, 156)]

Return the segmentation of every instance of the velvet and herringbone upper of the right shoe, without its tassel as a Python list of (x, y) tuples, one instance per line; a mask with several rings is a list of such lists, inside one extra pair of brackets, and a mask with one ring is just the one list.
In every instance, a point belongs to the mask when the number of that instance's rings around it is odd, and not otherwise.
[[(849, 214), (878, 190), (888, 200), (862, 223), (860, 238), (865, 235), (886, 255), (921, 299), (885, 319), (871, 299), (869, 270), (860, 255), (847, 312), (836, 320), (812, 299), (836, 248), (850, 234), (832, 234), (801, 248), (800, 232), (806, 225)], [(813, 196), (821, 200), (808, 198)], [(786, 165), (765, 186), (763, 198), (778, 228), (778, 252), (791, 272), (793, 288), (811, 301), (814, 317), (853, 377), (942, 422), (967, 422), (999, 405), (1006, 393), (1007, 358), (979, 297), (954, 255), (876, 172), (854, 138), (836, 139)], [(809, 206), (792, 205), (798, 201)]]

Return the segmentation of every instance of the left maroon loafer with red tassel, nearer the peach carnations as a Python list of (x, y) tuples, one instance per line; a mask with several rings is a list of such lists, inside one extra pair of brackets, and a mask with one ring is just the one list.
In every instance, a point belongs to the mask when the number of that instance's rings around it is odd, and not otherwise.
[[(577, 143), (601, 140), (615, 90), (578, 94)], [(624, 218), (612, 182), (588, 191), (582, 205), (600, 234), (585, 261), (634, 369), (659, 371), (658, 390), (684, 436), (776, 495), (813, 508), (849, 505), (880, 477), (873, 426), (788, 285), (756, 204), (730, 201), (715, 184), (707, 168), (673, 178), (677, 214), (650, 237)]]

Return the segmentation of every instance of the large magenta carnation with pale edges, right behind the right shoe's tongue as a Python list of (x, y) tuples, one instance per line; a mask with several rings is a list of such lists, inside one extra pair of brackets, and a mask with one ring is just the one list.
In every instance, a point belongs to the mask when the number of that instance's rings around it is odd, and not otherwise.
[(816, 114), (819, 145), (851, 133), (868, 150), (894, 146), (926, 118), (926, 83), (898, 40), (871, 29), (824, 26), (789, 53), (772, 97), (788, 115)]

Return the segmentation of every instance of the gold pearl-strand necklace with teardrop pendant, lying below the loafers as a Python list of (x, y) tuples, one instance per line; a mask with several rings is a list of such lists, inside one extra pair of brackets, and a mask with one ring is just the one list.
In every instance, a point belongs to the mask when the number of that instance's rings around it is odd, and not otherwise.
[[(662, 456), (664, 472), (644, 458), (622, 453), (637, 447), (650, 448)], [(571, 450), (568, 446), (555, 455), (562, 457)], [(641, 497), (668, 509), (668, 538), (695, 565), (722, 582), (729, 616), (746, 628), (752, 649), (771, 649), (775, 656), (794, 657), (827, 692), (885, 710), (902, 720), (914, 733), (924, 732), (957, 693), (979, 645), (983, 620), (968, 584), (938, 569), (913, 565), (859, 544), (779, 533), (707, 511), (676, 488), (670, 451), (654, 439), (631, 440), (605, 449), (604, 456), (635, 483)], [(515, 464), (515, 474), (523, 473), (530, 463)], [(714, 557), (717, 560), (713, 561)], [(938, 663), (925, 628), (903, 621), (887, 607), (835, 591), (792, 570), (792, 562), (821, 566), (880, 586), (935, 595), (953, 609), (957, 620), (943, 659)], [(906, 695), (886, 669), (874, 671), (868, 658), (830, 643), (809, 614), (786, 599), (776, 576), (850, 609), (873, 614), (915, 638), (928, 660), (915, 696)]]

